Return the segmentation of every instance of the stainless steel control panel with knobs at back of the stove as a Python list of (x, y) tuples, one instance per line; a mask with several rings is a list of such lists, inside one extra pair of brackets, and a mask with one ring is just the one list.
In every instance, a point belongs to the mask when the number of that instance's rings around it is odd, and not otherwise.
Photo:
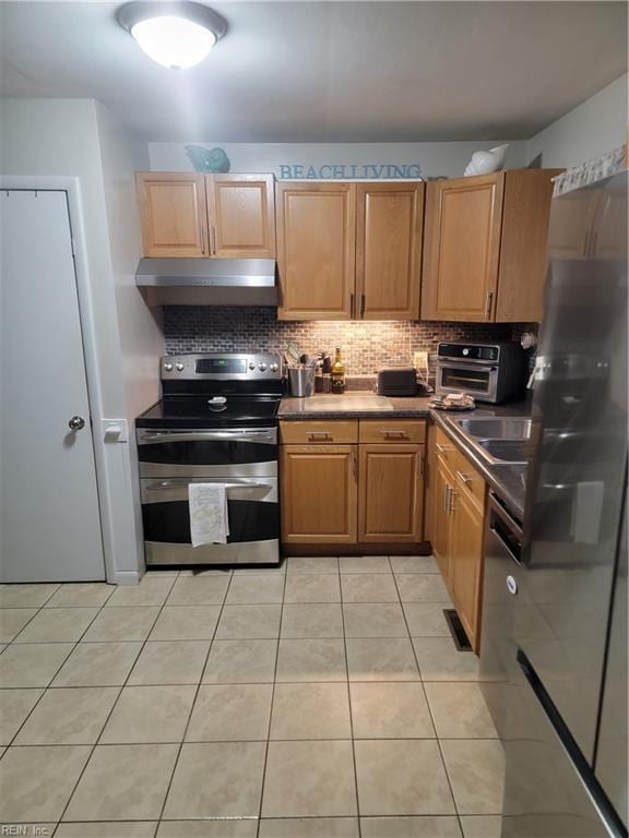
[(282, 356), (274, 352), (167, 355), (159, 362), (163, 380), (281, 380)]

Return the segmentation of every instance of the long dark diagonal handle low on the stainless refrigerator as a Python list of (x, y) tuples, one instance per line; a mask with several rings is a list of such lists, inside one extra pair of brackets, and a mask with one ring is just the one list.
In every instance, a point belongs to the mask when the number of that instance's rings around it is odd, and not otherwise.
[(555, 703), (553, 702), (553, 698), (548, 695), (546, 692), (546, 687), (542, 683), (539, 675), (535, 671), (535, 668), (524, 654), (522, 649), (518, 649), (518, 653), (515, 655), (515, 660), (518, 661), (518, 665), (522, 672), (524, 673), (524, 678), (529, 682), (529, 685), (533, 690), (533, 693), (535, 694), (535, 697), (539, 702), (539, 707), (542, 711), (544, 713), (546, 720), (553, 728), (554, 732), (556, 733), (557, 738), (559, 739), (559, 742), (566, 752), (566, 755), (570, 759), (570, 763), (572, 764), (572, 767), (577, 771), (577, 775), (579, 779), (581, 780), (581, 783), (583, 785), (583, 788), (588, 792), (588, 797), (592, 801), (592, 804), (596, 812), (598, 813), (598, 816), (601, 817), (601, 823), (607, 830), (610, 838), (627, 838), (627, 829), (625, 828), (625, 824), (618, 816), (618, 813), (609, 802), (609, 799), (605, 794), (605, 791), (603, 790), (603, 787), (598, 782), (596, 775), (592, 770), (590, 763), (584, 757), (583, 752), (577, 744), (577, 741), (574, 740), (572, 733), (570, 733), (570, 730), (568, 729), (568, 726), (561, 718), (561, 715), (559, 714), (559, 710), (555, 706)]

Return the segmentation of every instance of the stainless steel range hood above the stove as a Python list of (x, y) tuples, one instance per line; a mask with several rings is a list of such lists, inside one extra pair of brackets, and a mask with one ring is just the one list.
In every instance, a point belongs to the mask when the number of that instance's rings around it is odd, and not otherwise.
[(274, 259), (141, 259), (150, 306), (277, 306)]

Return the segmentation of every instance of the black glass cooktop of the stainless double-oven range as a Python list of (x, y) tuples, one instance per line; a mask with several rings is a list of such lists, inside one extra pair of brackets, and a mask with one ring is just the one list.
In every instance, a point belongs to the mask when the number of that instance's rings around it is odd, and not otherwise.
[(280, 396), (168, 396), (135, 420), (138, 428), (230, 428), (277, 423)]

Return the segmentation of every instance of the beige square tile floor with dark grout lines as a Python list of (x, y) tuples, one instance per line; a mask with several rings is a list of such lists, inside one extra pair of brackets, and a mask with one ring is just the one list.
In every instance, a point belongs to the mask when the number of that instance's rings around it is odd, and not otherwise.
[(426, 556), (0, 586), (0, 834), (497, 838), (448, 603)]

